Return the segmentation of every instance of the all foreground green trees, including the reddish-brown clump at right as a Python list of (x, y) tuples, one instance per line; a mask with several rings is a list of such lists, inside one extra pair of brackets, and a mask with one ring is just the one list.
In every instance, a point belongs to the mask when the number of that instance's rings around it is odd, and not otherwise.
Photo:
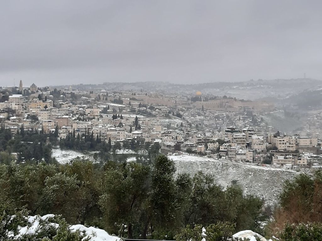
[[(202, 172), (176, 174), (166, 156), (151, 165), (1, 164), (0, 235), (25, 222), (22, 215), (53, 213), (62, 215), (63, 227), (86, 224), (128, 238), (201, 240), (206, 227), (209, 241), (227, 240), (244, 229), (281, 241), (319, 241), (321, 180), (317, 171), (314, 178), (300, 174), (287, 181), (272, 210), (260, 198), (244, 195), (236, 182), (223, 189)], [(263, 220), (269, 221), (261, 229)], [(67, 229), (64, 234), (70, 235)]]

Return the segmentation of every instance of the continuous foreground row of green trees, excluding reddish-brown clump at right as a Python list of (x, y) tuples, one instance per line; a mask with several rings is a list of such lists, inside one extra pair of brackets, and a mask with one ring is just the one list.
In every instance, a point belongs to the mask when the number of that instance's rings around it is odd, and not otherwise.
[(234, 231), (254, 229), (263, 201), (227, 189), (201, 172), (175, 174), (175, 164), (157, 156), (152, 165), (0, 165), (0, 203), (29, 215), (60, 214), (72, 224), (87, 224), (128, 238), (174, 239), (182, 227), (225, 222)]

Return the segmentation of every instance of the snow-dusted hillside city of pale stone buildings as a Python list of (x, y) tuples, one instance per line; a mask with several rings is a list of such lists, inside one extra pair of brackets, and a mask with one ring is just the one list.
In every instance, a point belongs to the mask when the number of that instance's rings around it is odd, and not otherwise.
[(117, 149), (140, 139), (141, 146), (157, 143), (166, 155), (185, 152), (295, 170), (322, 165), (321, 135), (276, 131), (262, 117), (274, 108), (271, 103), (201, 92), (24, 87), (22, 81), (19, 87), (2, 87), (0, 98), (2, 126), (12, 134), (22, 128), (58, 130), (60, 140), (91, 134)]

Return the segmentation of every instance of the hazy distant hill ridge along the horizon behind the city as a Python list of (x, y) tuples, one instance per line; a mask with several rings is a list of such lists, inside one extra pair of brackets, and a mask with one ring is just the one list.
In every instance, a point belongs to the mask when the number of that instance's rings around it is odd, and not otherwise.
[[(184, 80), (182, 80), (184, 82)], [(101, 90), (108, 91), (148, 91), (164, 94), (195, 94), (200, 91), (203, 95), (231, 96), (245, 100), (257, 100), (260, 98), (271, 98), (271, 102), (283, 99), (304, 90), (311, 91), (316, 86), (322, 86), (322, 81), (317, 79), (274, 79), (274, 80), (250, 80), (241, 82), (210, 82), (196, 84), (174, 84), (169, 82), (105, 82), (99, 85), (78, 84), (72, 85), (78, 90)], [(56, 88), (69, 88), (65, 86), (51, 86)]]

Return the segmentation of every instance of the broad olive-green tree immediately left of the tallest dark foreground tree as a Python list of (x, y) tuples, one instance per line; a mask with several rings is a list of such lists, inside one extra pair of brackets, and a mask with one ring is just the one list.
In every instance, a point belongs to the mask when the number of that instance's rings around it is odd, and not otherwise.
[(134, 162), (118, 166), (109, 162), (105, 169), (104, 194), (99, 199), (104, 219), (112, 227), (110, 232), (116, 233), (121, 224), (126, 224), (127, 237), (133, 238), (134, 232), (140, 233), (134, 228), (142, 227), (140, 219), (148, 195), (149, 167)]

